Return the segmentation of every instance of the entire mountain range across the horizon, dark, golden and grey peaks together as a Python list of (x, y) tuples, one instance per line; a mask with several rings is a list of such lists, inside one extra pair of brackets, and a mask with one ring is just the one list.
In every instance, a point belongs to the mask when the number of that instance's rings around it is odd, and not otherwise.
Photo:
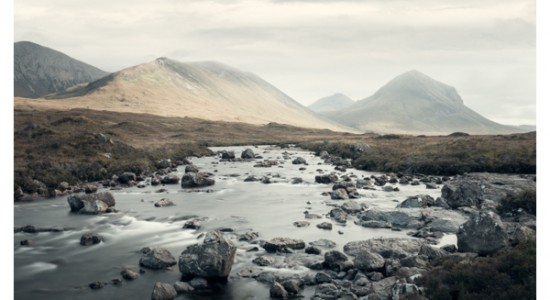
[(31, 42), (17, 42), (14, 50), (16, 109), (89, 108), (348, 132), (526, 131), (488, 120), (465, 106), (455, 88), (415, 70), (360, 101), (337, 93), (308, 109), (259, 76), (218, 62), (163, 57), (109, 74)]

